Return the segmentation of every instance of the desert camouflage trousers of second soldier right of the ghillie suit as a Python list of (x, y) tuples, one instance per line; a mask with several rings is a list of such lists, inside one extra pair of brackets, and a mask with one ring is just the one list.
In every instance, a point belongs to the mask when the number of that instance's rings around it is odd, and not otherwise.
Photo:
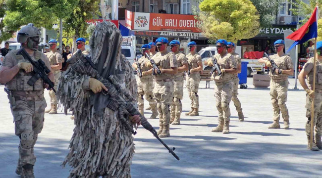
[(170, 124), (170, 105), (173, 97), (172, 79), (156, 81), (154, 90), (154, 99), (157, 101), (157, 109), (159, 112), (159, 124)]

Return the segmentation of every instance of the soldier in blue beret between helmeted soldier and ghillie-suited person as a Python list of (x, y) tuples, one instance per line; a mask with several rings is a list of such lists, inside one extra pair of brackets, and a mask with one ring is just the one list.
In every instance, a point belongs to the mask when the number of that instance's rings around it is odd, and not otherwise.
[[(64, 59), (62, 58), (62, 55), (57, 50), (57, 41), (56, 40), (50, 40), (49, 46), (51, 51), (46, 53), (46, 56), (49, 59), (49, 62), (52, 66), (52, 71), (55, 76), (55, 83), (58, 84), (58, 79), (60, 77), (59, 70), (62, 67), (62, 62), (64, 62)], [(57, 90), (57, 85), (54, 87), (55, 90)], [(48, 114), (57, 114), (57, 98), (56, 94), (53, 90), (49, 91), (49, 96), (51, 98), (51, 107), (47, 110), (45, 110), (45, 113)]]

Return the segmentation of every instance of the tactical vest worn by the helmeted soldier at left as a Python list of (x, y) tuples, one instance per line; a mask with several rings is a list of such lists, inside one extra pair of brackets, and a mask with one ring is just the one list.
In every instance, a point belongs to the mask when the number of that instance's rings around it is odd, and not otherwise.
[[(12, 51), (14, 54), (14, 57), (17, 60), (17, 63), (19, 62), (27, 62), (30, 63), (27, 59), (23, 58), (22, 55), (16, 55), (18, 50)], [(41, 52), (35, 51), (35, 60), (41, 58)], [(36, 90), (43, 90), (43, 79), (38, 79), (34, 86), (28, 85), (28, 81), (30, 78), (33, 77), (33, 72), (25, 73), (23, 69), (20, 69), (18, 74), (13, 77), (11, 81), (7, 83), (7, 88), (12, 91), (36, 91)]]

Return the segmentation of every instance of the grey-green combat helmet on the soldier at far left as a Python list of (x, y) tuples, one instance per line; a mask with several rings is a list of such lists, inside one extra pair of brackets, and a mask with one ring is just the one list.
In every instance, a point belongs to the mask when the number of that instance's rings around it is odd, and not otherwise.
[(41, 33), (34, 24), (29, 23), (26, 26), (23, 26), (17, 35), (18, 43), (25, 43), (29, 37), (40, 37)]

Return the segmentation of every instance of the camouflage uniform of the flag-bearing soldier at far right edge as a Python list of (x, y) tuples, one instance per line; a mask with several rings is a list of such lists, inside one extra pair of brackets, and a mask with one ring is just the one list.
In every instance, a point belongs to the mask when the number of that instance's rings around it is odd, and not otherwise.
[[(308, 83), (309, 88), (312, 89), (313, 85), (313, 67), (314, 67), (314, 58), (310, 58), (308, 62), (303, 66), (303, 70), (308, 72)], [(315, 81), (315, 99), (314, 99), (314, 126), (315, 126), (315, 137), (316, 143), (319, 149), (322, 149), (321, 135), (322, 135), (322, 63), (316, 61), (316, 81)], [(321, 76), (321, 77), (320, 77)], [(308, 121), (305, 125), (305, 132), (308, 136), (311, 135), (311, 109), (312, 107), (312, 98), (307, 94), (306, 96), (306, 117)]]

